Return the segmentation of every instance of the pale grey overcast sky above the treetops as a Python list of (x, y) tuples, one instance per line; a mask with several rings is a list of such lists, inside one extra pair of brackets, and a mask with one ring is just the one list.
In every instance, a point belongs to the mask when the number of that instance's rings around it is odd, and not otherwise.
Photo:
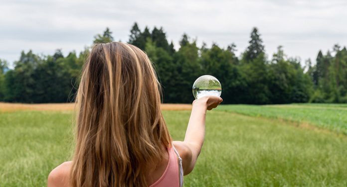
[(0, 0), (0, 58), (13, 62), (20, 51), (53, 54), (81, 51), (106, 27), (128, 41), (137, 21), (163, 26), (177, 49), (185, 32), (200, 45), (248, 45), (259, 29), (269, 57), (282, 45), (289, 57), (315, 63), (338, 43), (347, 45), (347, 0)]

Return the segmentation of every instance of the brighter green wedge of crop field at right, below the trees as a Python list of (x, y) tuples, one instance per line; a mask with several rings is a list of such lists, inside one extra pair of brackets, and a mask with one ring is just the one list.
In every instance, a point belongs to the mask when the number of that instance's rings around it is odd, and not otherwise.
[(347, 135), (347, 104), (221, 105), (219, 111), (307, 122)]

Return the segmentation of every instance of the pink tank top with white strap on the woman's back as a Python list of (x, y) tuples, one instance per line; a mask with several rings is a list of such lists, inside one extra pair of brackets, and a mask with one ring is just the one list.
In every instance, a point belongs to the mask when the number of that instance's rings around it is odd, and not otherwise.
[(174, 148), (168, 148), (169, 162), (163, 173), (150, 187), (179, 187), (179, 168), (177, 155), (174, 152)]

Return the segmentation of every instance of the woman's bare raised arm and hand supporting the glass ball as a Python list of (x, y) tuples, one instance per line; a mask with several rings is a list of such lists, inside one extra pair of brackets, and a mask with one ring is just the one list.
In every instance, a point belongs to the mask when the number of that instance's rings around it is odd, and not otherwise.
[(184, 141), (174, 141), (174, 146), (182, 158), (184, 175), (194, 168), (205, 138), (206, 110), (218, 106), (223, 99), (218, 96), (204, 96), (193, 101)]

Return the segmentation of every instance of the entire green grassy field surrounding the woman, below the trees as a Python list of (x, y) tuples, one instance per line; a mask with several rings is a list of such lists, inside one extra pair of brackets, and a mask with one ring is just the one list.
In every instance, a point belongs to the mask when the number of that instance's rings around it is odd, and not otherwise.
[[(209, 111), (202, 152), (184, 185), (346, 187), (344, 108), (223, 105)], [(182, 140), (190, 111), (163, 112), (173, 138)], [(70, 110), (3, 109), (0, 187), (46, 186), (49, 172), (70, 159), (72, 115)]]

